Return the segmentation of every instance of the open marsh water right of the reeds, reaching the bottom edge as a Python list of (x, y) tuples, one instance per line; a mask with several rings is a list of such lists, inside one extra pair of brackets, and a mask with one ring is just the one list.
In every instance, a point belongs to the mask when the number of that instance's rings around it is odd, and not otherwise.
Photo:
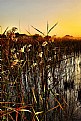
[[(56, 98), (60, 101), (61, 98), (64, 97), (66, 103), (67, 103), (67, 120), (71, 120), (69, 117), (70, 113), (73, 114), (74, 117), (73, 121), (81, 120), (81, 54), (78, 55), (75, 53), (72, 53), (70, 55), (63, 55), (63, 60), (60, 61), (60, 63), (56, 64), (55, 70), (54, 70), (54, 77), (56, 81), (59, 83), (54, 87), (53, 83), (53, 76), (52, 76), (52, 69), (49, 68), (48, 71), (48, 86), (52, 89), (52, 91), (55, 93)], [(54, 98), (52, 93), (50, 93), (50, 103), (52, 103), (54, 107)], [(72, 110), (73, 111), (72, 111)], [(66, 112), (67, 112), (66, 111)], [(64, 114), (61, 112), (61, 117), (63, 118)], [(76, 116), (77, 115), (77, 116)], [(60, 120), (60, 119), (55, 119)]]

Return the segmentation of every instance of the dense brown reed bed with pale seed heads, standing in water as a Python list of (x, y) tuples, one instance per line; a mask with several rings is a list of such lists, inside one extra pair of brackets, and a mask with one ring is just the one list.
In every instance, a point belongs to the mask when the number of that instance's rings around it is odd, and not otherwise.
[(59, 72), (59, 68), (62, 61), (76, 58), (80, 52), (81, 41), (77, 40), (58, 39), (52, 42), (48, 36), (41, 41), (37, 36), (17, 40), (2, 38), (0, 120), (75, 121), (78, 100), (75, 102), (75, 93), (72, 95), (71, 92), (74, 87), (70, 83), (67, 86), (70, 89), (68, 101), (64, 89), (64, 82), (68, 80), (60, 77), (62, 71)]

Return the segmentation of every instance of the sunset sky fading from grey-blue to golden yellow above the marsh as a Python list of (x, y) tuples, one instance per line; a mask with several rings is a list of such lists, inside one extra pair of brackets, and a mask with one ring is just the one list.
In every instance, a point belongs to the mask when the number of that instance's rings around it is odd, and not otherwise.
[(33, 25), (46, 34), (47, 21), (49, 28), (58, 22), (51, 36), (81, 37), (81, 0), (0, 0), (2, 32), (7, 26), (19, 29), (20, 25), (21, 33), (26, 33), (26, 29), (31, 34), (38, 33)]

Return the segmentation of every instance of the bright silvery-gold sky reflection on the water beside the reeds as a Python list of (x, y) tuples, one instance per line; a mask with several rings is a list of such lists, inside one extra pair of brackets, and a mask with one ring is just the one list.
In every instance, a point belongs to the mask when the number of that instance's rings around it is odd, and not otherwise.
[(59, 81), (59, 90), (66, 92), (67, 99), (81, 101), (81, 55), (63, 55), (63, 60), (56, 65), (54, 75)]

